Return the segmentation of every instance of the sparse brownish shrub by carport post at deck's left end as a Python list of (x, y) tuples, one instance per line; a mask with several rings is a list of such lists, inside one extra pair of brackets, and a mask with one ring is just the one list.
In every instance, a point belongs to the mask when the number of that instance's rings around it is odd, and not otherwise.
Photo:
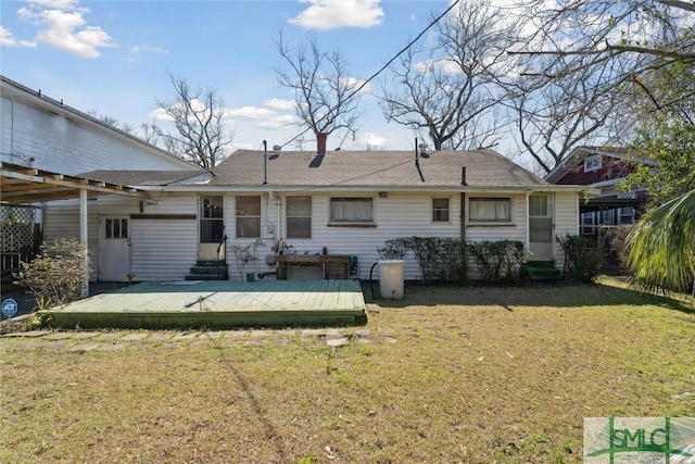
[(20, 263), (15, 284), (28, 289), (37, 302), (65, 304), (83, 296), (89, 254), (76, 239), (60, 239), (54, 246), (41, 244), (37, 256)]

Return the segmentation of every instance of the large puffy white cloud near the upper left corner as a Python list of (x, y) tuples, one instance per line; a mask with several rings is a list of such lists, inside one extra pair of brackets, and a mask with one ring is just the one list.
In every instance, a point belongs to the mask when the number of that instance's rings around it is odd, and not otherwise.
[(36, 43), (64, 50), (83, 58), (99, 58), (100, 49), (116, 47), (111, 36), (98, 26), (87, 25), (86, 8), (75, 0), (31, 0), (17, 10), (17, 16), (39, 27)]

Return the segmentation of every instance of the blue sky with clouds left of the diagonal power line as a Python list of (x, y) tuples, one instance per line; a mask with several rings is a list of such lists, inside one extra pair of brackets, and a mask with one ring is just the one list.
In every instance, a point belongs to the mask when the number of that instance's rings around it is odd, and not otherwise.
[[(155, 99), (173, 95), (168, 70), (191, 86), (217, 89), (236, 131), (232, 149), (256, 149), (301, 130), (282, 125), (293, 110), (274, 71), (285, 67), (274, 41), (280, 30), (290, 45), (314, 34), (364, 79), (447, 7), (446, 0), (2, 0), (0, 73), (138, 129), (152, 122)], [(343, 149), (414, 147), (415, 135), (387, 124), (374, 97), (363, 97), (361, 109), (357, 138)], [(329, 150), (338, 143), (329, 139)]]

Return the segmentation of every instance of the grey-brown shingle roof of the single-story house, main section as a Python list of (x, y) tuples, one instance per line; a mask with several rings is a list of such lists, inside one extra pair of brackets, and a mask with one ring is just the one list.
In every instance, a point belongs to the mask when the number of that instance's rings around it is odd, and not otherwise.
[[(213, 170), (211, 186), (262, 186), (264, 155), (238, 150)], [(466, 167), (469, 187), (546, 186), (547, 183), (492, 150), (434, 151), (420, 158), (414, 151), (333, 151), (267, 154), (267, 185), (293, 187), (403, 187), (462, 186)], [(421, 173), (421, 177), (420, 177)]]

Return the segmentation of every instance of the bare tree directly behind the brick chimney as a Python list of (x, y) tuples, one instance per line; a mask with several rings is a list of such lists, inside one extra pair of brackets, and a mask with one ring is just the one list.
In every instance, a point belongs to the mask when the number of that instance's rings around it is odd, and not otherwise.
[(354, 137), (362, 115), (357, 111), (361, 80), (349, 75), (348, 60), (340, 52), (323, 51), (316, 37), (311, 37), (307, 46), (292, 49), (280, 33), (276, 45), (289, 70), (275, 72), (280, 86), (294, 92), (294, 111), (300, 120), (296, 125), (317, 137), (337, 130), (345, 131), (343, 141)]

